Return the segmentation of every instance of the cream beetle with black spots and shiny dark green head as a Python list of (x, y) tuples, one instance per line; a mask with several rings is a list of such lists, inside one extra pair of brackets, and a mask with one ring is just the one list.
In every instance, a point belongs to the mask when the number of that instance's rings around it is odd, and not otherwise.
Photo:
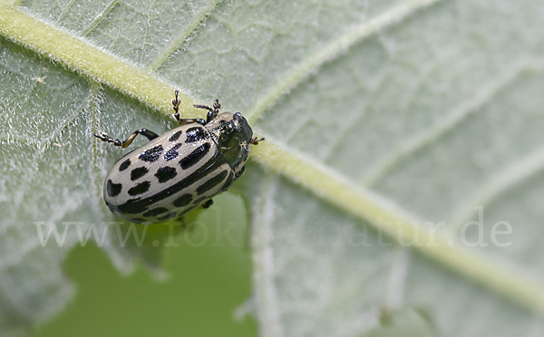
[(138, 224), (155, 224), (180, 218), (196, 207), (208, 208), (212, 197), (226, 191), (245, 171), (253, 136), (240, 112), (220, 112), (216, 100), (206, 120), (181, 119), (179, 91), (172, 100), (178, 127), (159, 136), (147, 129), (126, 140), (106, 133), (94, 137), (126, 148), (142, 135), (150, 140), (119, 159), (108, 172), (103, 197), (112, 212)]

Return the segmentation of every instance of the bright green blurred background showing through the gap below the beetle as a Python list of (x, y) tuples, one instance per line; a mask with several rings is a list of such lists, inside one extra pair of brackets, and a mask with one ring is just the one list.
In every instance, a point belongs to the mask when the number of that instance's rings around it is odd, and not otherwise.
[[(218, 246), (215, 212), (203, 211), (199, 224), (175, 237), (180, 246), (165, 248), (165, 280), (141, 265), (123, 276), (95, 244), (76, 246), (64, 264), (76, 284), (73, 302), (34, 337), (59, 336), (254, 336), (252, 316), (235, 310), (251, 292), (251, 260), (246, 240), (246, 209), (241, 197), (224, 193), (214, 207), (222, 210), (219, 226), (235, 240)], [(164, 228), (167, 229), (167, 228)], [(192, 245), (190, 244), (192, 243)], [(201, 246), (200, 246), (201, 244)]]

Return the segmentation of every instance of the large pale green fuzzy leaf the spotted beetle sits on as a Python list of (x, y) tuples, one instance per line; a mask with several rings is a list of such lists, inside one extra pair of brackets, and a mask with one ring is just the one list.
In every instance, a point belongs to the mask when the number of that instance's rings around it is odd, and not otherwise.
[[(540, 17), (530, 1), (0, 5), (0, 330), (71, 294), (66, 222), (112, 228), (119, 155), (92, 130), (168, 130), (174, 83), (188, 115), (219, 98), (267, 139), (237, 183), (263, 336), (540, 335)], [(40, 245), (53, 223), (66, 244)], [(107, 234), (124, 270), (157, 265)]]

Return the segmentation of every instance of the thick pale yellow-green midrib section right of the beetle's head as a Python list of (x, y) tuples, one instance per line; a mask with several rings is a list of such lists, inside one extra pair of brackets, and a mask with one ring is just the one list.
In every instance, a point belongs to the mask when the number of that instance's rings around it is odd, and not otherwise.
[(262, 143), (263, 146), (259, 144), (252, 155), (259, 164), (286, 176), (317, 197), (374, 226), (393, 240), (413, 243), (410, 247), (429, 256), (436, 263), (537, 313), (544, 313), (544, 286), (528, 274), (483, 255), (451, 246), (451, 241), (432, 236), (423, 226), (414, 226), (423, 224), (423, 221), (394, 205), (391, 200), (368, 189), (356, 187), (353, 181), (332, 169), (264, 136), (267, 141)]

